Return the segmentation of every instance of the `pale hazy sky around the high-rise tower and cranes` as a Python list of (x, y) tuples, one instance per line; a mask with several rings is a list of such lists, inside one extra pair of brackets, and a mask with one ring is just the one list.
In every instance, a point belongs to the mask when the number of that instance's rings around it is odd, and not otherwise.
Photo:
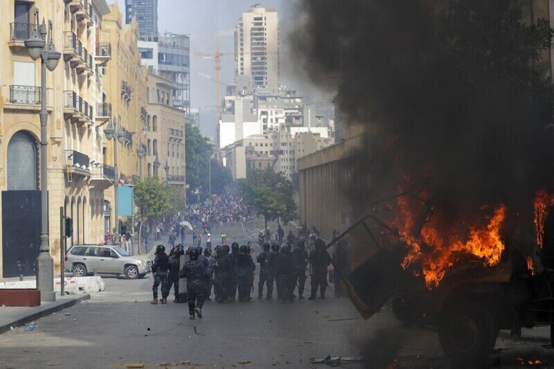
[[(125, 17), (125, 0), (117, 0)], [(280, 21), (281, 50), (287, 51), (287, 38), (294, 19), (292, 0), (159, 0), (159, 32), (190, 35), (190, 106), (201, 109), (201, 131), (208, 137), (215, 137), (215, 83), (200, 77), (197, 73), (215, 75), (213, 59), (196, 58), (195, 52), (220, 51), (233, 53), (233, 32), (242, 12), (249, 10), (256, 1), (266, 8), (275, 8)], [(299, 83), (294, 63), (281, 55), (281, 84), (287, 84), (303, 91), (305, 82)], [(235, 66), (232, 55), (222, 57), (222, 82), (234, 81)], [(300, 86), (301, 85), (301, 86)], [(222, 87), (222, 95), (224, 94)], [(310, 96), (321, 95), (310, 90)]]

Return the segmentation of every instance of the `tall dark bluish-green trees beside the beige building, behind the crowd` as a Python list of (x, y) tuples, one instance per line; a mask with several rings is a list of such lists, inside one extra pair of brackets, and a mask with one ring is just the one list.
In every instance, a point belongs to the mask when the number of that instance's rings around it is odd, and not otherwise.
[(202, 136), (199, 129), (187, 123), (186, 125), (186, 183), (189, 186), (188, 195), (194, 203), (206, 199), (209, 193), (209, 163), (211, 160), (212, 193), (221, 195), (226, 186), (233, 182), (228, 168), (219, 161), (210, 159), (214, 147), (208, 138)]

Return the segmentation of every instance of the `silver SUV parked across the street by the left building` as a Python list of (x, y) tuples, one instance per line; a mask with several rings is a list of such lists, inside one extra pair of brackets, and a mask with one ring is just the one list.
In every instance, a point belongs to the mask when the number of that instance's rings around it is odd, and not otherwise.
[(150, 265), (118, 246), (76, 245), (65, 255), (65, 269), (78, 277), (87, 276), (96, 269), (97, 273), (136, 279), (149, 273)]

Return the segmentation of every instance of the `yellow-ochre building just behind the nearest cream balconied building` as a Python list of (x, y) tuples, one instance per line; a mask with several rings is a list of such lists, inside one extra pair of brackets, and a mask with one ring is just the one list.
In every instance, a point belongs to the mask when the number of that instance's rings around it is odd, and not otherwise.
[[(102, 102), (105, 104), (108, 118), (100, 125), (103, 131), (116, 123), (116, 129), (125, 134), (123, 143), (116, 141), (118, 155), (118, 173), (116, 181), (123, 186), (132, 185), (134, 177), (144, 173), (145, 161), (137, 154), (139, 145), (145, 142), (145, 131), (148, 127), (147, 87), (148, 72), (141, 64), (139, 53), (139, 25), (136, 20), (130, 24), (122, 23), (122, 15), (117, 3), (111, 4), (111, 12), (103, 18), (101, 39), (109, 42), (111, 62), (103, 75), (104, 89)], [(111, 110), (111, 119), (109, 113)], [(114, 165), (114, 141), (107, 141), (102, 133), (102, 160)], [(142, 168), (139, 168), (142, 165)], [(114, 186), (105, 190), (105, 229), (116, 228)], [(118, 210), (120, 217), (128, 216)]]

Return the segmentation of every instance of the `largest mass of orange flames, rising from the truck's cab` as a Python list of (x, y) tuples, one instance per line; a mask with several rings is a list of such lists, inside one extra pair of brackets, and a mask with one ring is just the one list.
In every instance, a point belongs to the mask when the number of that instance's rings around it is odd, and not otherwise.
[(414, 205), (411, 199), (400, 197), (398, 205), (398, 231), (400, 238), (408, 245), (402, 267), (406, 269), (419, 262), (429, 289), (439, 285), (462, 253), (481, 258), (488, 267), (499, 264), (502, 252), (506, 249), (500, 235), (506, 219), (506, 206), (496, 206), (488, 222), (476, 222), (471, 226), (463, 224), (449, 227), (443, 224), (440, 215), (429, 215), (424, 219), (420, 234), (415, 236), (418, 231), (416, 218), (421, 214), (424, 204), (416, 201)]

